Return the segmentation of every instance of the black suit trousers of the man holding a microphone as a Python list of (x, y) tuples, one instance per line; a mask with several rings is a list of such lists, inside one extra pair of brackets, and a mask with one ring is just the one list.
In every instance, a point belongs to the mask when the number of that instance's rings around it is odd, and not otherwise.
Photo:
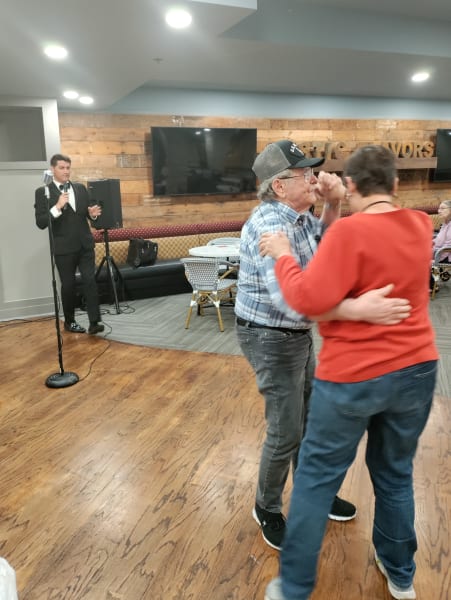
[(83, 249), (75, 254), (57, 255), (55, 256), (55, 264), (61, 279), (61, 302), (66, 323), (75, 320), (75, 273), (77, 267), (83, 284), (89, 322), (100, 321), (94, 250)]

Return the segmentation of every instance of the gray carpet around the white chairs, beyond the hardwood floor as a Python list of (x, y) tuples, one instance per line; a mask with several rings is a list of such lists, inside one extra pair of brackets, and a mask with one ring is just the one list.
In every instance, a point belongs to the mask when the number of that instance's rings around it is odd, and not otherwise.
[[(207, 308), (202, 317), (194, 309), (190, 328), (185, 329), (190, 297), (191, 294), (179, 294), (121, 303), (119, 314), (113, 305), (102, 305), (102, 320), (106, 325), (102, 335), (118, 342), (154, 348), (241, 354), (235, 336), (233, 307), (221, 308), (225, 328), (222, 333), (213, 307)], [(443, 284), (431, 301), (430, 312), (441, 358), (437, 393), (451, 397), (451, 281)], [(87, 325), (85, 313), (77, 315), (77, 320)], [(314, 337), (318, 350), (321, 339), (316, 332)]]

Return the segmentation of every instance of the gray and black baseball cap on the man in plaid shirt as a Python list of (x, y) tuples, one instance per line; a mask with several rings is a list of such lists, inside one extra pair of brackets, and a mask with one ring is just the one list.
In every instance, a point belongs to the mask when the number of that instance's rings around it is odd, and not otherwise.
[(308, 158), (291, 140), (280, 140), (268, 144), (257, 156), (252, 170), (259, 181), (270, 179), (285, 169), (319, 167), (325, 158)]

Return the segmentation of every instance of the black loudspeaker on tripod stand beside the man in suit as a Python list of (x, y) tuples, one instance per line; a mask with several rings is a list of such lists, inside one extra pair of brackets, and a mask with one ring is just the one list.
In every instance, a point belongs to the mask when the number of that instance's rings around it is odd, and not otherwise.
[(107, 284), (112, 292), (116, 314), (121, 312), (116, 288), (116, 282), (124, 290), (124, 280), (121, 272), (110, 254), (109, 247), (109, 229), (120, 229), (122, 227), (122, 204), (119, 179), (98, 179), (88, 181), (88, 192), (91, 204), (98, 204), (102, 209), (102, 214), (93, 222), (96, 229), (103, 229), (103, 239), (105, 245), (105, 254), (100, 261), (96, 271), (96, 281), (99, 280), (102, 268), (106, 266)]

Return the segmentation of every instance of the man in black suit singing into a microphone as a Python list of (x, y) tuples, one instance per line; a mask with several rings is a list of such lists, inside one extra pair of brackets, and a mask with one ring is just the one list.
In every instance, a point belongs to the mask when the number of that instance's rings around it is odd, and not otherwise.
[(53, 181), (35, 192), (36, 225), (45, 229), (50, 220), (53, 232), (55, 264), (61, 280), (61, 302), (64, 329), (71, 333), (85, 333), (75, 321), (75, 273), (81, 274), (86, 309), (89, 318), (88, 333), (104, 330), (100, 322), (99, 299), (95, 280), (94, 238), (88, 224), (101, 214), (98, 205), (89, 205), (88, 190), (81, 183), (71, 183), (71, 159), (55, 154), (50, 159)]

